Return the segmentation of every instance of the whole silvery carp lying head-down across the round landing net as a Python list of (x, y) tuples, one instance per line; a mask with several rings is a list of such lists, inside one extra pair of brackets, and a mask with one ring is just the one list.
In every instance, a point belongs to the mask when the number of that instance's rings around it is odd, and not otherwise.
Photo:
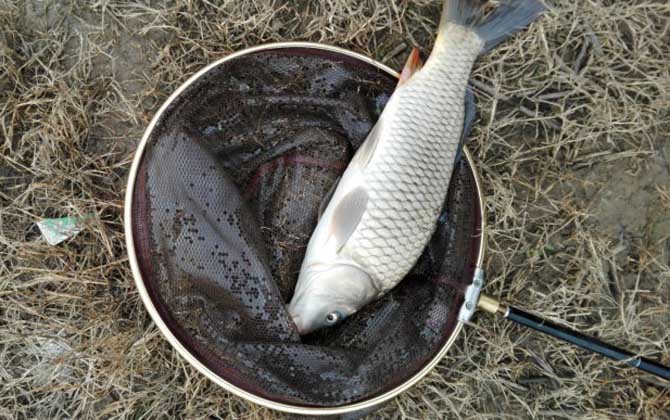
[(474, 120), (477, 58), (544, 11), (538, 0), (493, 10), (445, 0), (426, 62), (413, 52), (399, 86), (322, 205), (288, 313), (301, 335), (339, 324), (393, 289), (435, 232)]

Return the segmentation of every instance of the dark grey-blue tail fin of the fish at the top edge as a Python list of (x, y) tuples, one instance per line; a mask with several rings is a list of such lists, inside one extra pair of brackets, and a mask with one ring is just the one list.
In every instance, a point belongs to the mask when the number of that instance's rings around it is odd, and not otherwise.
[(487, 1), (445, 0), (439, 33), (450, 25), (469, 27), (484, 41), (485, 54), (532, 23), (546, 7), (539, 0), (504, 0), (487, 13), (489, 9)]

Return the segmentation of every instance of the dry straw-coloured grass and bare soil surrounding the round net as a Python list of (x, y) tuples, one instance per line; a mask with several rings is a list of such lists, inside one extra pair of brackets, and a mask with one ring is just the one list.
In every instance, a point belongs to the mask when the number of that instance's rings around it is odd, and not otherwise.
[[(0, 0), (0, 418), (274, 415), (186, 366), (145, 313), (121, 218), (132, 151), (230, 51), (311, 40), (398, 67), (428, 50), (439, 2), (213, 3)], [(487, 292), (670, 364), (670, 5), (553, 6), (475, 72)], [(60, 246), (36, 230), (90, 212)], [(667, 382), (475, 321), (372, 417), (670, 418)]]

